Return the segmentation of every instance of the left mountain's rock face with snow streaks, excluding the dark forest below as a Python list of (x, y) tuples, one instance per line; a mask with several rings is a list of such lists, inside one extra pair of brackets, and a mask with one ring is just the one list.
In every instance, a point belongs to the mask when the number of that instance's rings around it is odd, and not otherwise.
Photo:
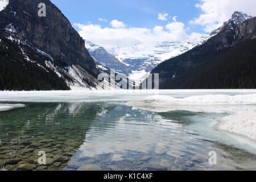
[[(45, 17), (38, 15), (39, 3), (46, 4)], [(97, 68), (84, 40), (51, 1), (10, 0), (0, 12), (0, 37), (2, 43), (10, 46), (10, 40), (16, 44), (15, 53), (23, 55), (20, 61), (24, 67), (28, 62), (40, 65), (46, 75), (56, 73), (71, 88), (97, 87), (96, 78), (102, 70)]]

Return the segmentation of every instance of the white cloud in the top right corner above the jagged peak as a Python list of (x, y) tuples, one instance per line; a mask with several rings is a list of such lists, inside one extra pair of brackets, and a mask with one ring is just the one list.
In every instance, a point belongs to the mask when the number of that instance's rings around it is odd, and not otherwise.
[(256, 15), (256, 1), (252, 0), (200, 0), (196, 7), (201, 9), (199, 17), (190, 21), (192, 24), (200, 24), (205, 32), (211, 32), (222, 26), (234, 11), (242, 11), (251, 16)]

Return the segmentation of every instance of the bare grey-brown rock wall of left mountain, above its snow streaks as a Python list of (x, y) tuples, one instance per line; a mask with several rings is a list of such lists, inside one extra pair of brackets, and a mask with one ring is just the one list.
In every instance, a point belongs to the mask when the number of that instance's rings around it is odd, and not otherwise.
[[(38, 16), (39, 3), (46, 4), (46, 17)], [(84, 46), (84, 40), (69, 20), (49, 0), (10, 0), (1, 11), (1, 27), (13, 23), (16, 32), (27, 42), (65, 61), (79, 64), (94, 76), (97, 69)]]

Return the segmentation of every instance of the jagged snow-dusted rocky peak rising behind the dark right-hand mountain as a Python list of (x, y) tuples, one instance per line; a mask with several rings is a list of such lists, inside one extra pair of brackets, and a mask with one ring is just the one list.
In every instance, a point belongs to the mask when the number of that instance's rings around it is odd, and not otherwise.
[(232, 17), (227, 22), (224, 22), (223, 26), (217, 28), (216, 30), (213, 30), (210, 36), (217, 35), (219, 32), (222, 31), (236, 28), (239, 24), (245, 22), (245, 20), (250, 18), (253, 18), (253, 16), (242, 13), (241, 11), (235, 11), (232, 14)]

